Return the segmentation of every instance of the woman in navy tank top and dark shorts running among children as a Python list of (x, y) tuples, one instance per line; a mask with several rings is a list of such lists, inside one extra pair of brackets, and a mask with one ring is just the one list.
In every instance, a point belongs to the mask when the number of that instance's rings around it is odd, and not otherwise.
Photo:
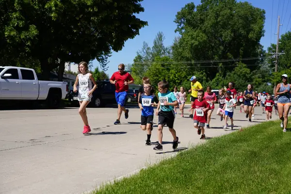
[(244, 113), (245, 118), (249, 118), (249, 122), (252, 122), (251, 116), (253, 111), (253, 104), (255, 103), (253, 97), (255, 97), (252, 84), (247, 85), (247, 89), (243, 92), (244, 98)]

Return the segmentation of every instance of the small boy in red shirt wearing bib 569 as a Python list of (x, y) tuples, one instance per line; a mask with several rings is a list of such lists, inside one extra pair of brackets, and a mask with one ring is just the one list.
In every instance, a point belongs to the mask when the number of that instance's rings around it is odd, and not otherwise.
[(205, 139), (204, 127), (205, 123), (207, 123), (207, 111), (210, 110), (210, 104), (203, 99), (204, 91), (198, 91), (197, 97), (198, 99), (195, 99), (189, 111), (196, 109), (194, 114), (194, 128), (198, 129), (198, 135), (200, 135), (202, 131), (200, 139)]

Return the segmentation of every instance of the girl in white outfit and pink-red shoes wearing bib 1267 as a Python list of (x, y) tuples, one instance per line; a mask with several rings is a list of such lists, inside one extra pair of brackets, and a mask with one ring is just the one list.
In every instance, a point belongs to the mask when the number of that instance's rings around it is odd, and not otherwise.
[[(88, 117), (86, 112), (86, 106), (91, 101), (91, 97), (93, 92), (97, 88), (96, 81), (94, 80), (91, 73), (88, 71), (88, 64), (86, 62), (80, 62), (78, 65), (78, 70), (80, 74), (77, 75), (75, 84), (74, 84), (74, 92), (77, 92), (77, 84), (79, 84), (79, 93), (78, 93), (78, 101), (80, 103), (79, 114), (84, 123), (83, 134), (87, 134), (91, 131), (90, 126), (88, 124)], [(92, 82), (94, 87), (92, 88)]]

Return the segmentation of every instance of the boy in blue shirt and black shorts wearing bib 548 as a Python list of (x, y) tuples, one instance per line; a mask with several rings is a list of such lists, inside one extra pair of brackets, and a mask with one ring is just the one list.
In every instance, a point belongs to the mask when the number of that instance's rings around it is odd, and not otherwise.
[(147, 130), (147, 139), (146, 139), (146, 146), (150, 146), (150, 136), (152, 131), (152, 124), (154, 119), (154, 103), (156, 105), (159, 103), (158, 98), (151, 94), (151, 84), (145, 83), (144, 84), (144, 94), (140, 95), (138, 106), (140, 107), (140, 110), (142, 111), (141, 116), (141, 128), (143, 130)]

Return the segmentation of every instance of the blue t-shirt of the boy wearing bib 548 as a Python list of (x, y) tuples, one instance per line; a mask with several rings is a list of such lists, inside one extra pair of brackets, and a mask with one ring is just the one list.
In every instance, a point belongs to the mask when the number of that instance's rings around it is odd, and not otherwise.
[(143, 116), (149, 116), (149, 115), (154, 115), (154, 107), (152, 107), (152, 103), (159, 103), (158, 98), (156, 95), (150, 95), (146, 96), (145, 94), (140, 95), (139, 103), (142, 104), (142, 107), (144, 108), (142, 110), (142, 115)]

